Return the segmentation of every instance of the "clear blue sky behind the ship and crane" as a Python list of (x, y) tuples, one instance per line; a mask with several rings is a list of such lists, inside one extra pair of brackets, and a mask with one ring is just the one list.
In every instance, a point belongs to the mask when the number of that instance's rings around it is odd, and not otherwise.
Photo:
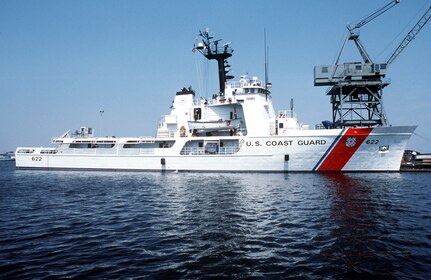
[[(217, 92), (217, 70), (193, 53), (200, 29), (232, 42), (231, 73), (263, 79), (263, 30), (276, 110), (294, 99), (301, 122), (331, 119), (313, 67), (334, 62), (347, 23), (389, 0), (0, 1), (0, 152), (50, 145), (90, 126), (103, 135), (154, 136), (174, 94)], [(403, 0), (361, 29), (385, 61), (431, 6)], [(341, 61), (360, 61), (350, 43)], [(431, 23), (391, 65), (384, 105), (392, 125), (419, 125), (409, 148), (431, 152)], [(99, 110), (104, 114), (100, 117)]]

